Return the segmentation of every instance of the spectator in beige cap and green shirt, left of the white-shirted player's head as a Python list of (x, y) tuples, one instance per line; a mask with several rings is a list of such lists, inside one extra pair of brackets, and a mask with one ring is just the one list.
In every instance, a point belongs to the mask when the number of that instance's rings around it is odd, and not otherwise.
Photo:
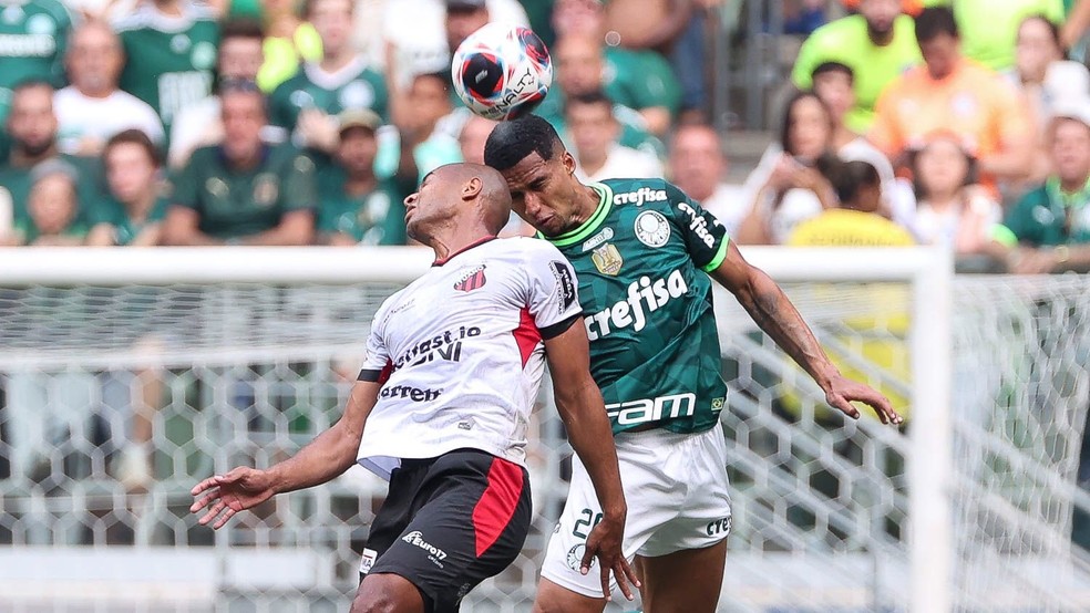
[(318, 240), (323, 245), (404, 245), (404, 198), (415, 186), (374, 174), (381, 120), (366, 108), (339, 117), (333, 164), (318, 175)]

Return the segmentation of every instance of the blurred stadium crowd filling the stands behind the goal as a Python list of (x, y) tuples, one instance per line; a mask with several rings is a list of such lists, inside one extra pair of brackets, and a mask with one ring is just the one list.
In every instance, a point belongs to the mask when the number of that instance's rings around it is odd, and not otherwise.
[(733, 185), (705, 25), (737, 1), (0, 0), (0, 245), (403, 245), (420, 178), (483, 159), (450, 53), (502, 20), (548, 44), (584, 180), (665, 175), (740, 245), (1090, 269), (1090, 0), (785, 2)]

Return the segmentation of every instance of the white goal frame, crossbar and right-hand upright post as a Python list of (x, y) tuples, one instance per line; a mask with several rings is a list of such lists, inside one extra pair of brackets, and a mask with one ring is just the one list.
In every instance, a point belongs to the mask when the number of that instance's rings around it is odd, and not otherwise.
[[(907, 523), (908, 605), (954, 607), (952, 509), (953, 262), (940, 250), (742, 248), (784, 283), (903, 283), (912, 289)], [(0, 249), (0, 288), (407, 283), (428, 269), (425, 248)], [(720, 292), (717, 302), (730, 300)]]

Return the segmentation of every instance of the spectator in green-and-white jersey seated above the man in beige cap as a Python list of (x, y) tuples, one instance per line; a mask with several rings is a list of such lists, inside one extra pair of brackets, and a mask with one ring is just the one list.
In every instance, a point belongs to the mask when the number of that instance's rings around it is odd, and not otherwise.
[(295, 76), (269, 96), (272, 125), (292, 134), (300, 147), (331, 153), (337, 148), (337, 114), (369, 108), (387, 121), (385, 79), (352, 48), (352, 0), (310, 0), (307, 19), (321, 37), (322, 56), (305, 62)]

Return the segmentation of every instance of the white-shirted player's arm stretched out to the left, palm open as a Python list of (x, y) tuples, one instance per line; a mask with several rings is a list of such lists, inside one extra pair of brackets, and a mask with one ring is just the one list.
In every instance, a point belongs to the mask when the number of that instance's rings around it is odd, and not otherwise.
[(240, 466), (226, 475), (200, 481), (191, 491), (199, 498), (189, 507), (189, 512), (207, 509), (200, 523), (212, 523), (213, 529), (218, 529), (235, 513), (277, 493), (317, 486), (338, 477), (356, 463), (363, 424), (378, 399), (379, 387), (379, 383), (357, 382), (340, 420), (298, 454), (268, 470)]

